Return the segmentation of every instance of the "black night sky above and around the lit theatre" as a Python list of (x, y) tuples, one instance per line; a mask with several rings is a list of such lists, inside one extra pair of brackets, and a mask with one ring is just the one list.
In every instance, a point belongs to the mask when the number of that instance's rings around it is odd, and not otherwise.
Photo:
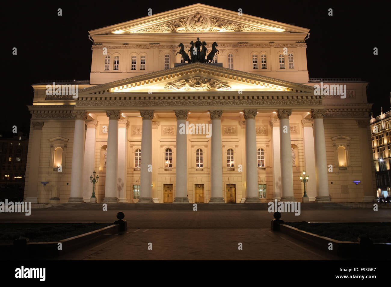
[[(390, 32), (386, 2), (371, 1), (103, 1), (4, 2), (2, 59), (5, 82), (0, 133), (18, 127), (29, 132), (31, 84), (43, 79), (89, 79), (91, 45), (88, 30), (179, 7), (204, 3), (310, 29), (307, 62), (310, 78), (362, 78), (369, 82), (368, 102), (375, 115), (389, 111)], [(148, 4), (145, 4), (148, 3)], [(183, 3), (183, 4), (182, 4)], [(232, 3), (232, 4), (231, 4)], [(8, 5), (8, 7), (7, 7)], [(61, 8), (63, 16), (57, 16)], [(333, 16), (328, 16), (328, 9)], [(8, 18), (7, 18), (8, 17)], [(17, 55), (12, 55), (13, 47)], [(378, 55), (373, 55), (373, 48)]]

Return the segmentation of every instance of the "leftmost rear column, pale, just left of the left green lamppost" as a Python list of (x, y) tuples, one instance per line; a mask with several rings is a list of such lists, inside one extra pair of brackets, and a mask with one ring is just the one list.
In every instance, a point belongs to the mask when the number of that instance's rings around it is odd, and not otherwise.
[[(84, 164), (83, 164), (83, 200), (90, 202), (92, 196), (92, 184), (90, 176), (93, 175), (95, 164), (95, 135), (98, 121), (86, 121), (86, 143), (84, 147)], [(97, 173), (99, 175), (99, 171)]]

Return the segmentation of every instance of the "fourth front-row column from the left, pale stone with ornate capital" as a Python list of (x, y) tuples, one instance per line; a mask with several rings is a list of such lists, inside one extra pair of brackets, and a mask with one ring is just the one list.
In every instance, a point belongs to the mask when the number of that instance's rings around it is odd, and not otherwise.
[(176, 160), (174, 203), (189, 203), (187, 198), (187, 135), (180, 134), (181, 125), (186, 127), (188, 111), (174, 111), (176, 116)]

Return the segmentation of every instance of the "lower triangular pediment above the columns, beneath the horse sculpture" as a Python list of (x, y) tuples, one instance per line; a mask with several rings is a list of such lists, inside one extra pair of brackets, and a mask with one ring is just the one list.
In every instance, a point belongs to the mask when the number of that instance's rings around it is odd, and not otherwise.
[(79, 97), (107, 93), (276, 91), (313, 94), (314, 88), (212, 64), (184, 64), (79, 90)]

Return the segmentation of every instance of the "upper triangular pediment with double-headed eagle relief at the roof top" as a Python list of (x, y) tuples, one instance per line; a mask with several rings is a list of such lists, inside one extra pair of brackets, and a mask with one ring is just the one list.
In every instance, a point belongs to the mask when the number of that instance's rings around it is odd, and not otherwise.
[(291, 32), (306, 35), (309, 31), (306, 28), (244, 13), (239, 15), (239, 12), (204, 4), (194, 4), (89, 32), (93, 37), (103, 34), (201, 32)]

